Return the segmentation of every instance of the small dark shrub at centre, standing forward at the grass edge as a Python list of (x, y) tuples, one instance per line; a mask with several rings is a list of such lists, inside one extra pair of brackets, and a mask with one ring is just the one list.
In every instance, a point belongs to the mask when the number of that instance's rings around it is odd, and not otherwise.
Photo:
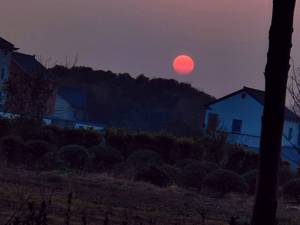
[(150, 182), (160, 187), (167, 185), (169, 181), (166, 172), (154, 164), (147, 164), (143, 167), (139, 167), (135, 179)]

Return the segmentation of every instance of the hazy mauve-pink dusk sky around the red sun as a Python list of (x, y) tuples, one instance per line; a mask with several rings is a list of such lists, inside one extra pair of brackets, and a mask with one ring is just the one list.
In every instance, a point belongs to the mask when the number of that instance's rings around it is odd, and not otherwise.
[[(271, 0), (2, 0), (0, 36), (58, 64), (188, 82), (217, 98), (264, 89)], [(300, 8), (292, 58), (300, 67)], [(173, 60), (189, 55), (189, 75)]]

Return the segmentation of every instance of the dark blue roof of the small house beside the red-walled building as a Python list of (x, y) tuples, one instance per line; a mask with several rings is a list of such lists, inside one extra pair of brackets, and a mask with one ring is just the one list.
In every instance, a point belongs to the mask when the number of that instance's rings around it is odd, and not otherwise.
[(66, 100), (73, 107), (85, 108), (87, 104), (87, 98), (83, 91), (75, 88), (59, 88), (58, 95)]

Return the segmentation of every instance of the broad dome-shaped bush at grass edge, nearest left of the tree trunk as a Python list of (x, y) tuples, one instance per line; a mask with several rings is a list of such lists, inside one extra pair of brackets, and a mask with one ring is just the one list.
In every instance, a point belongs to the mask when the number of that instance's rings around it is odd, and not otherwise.
[(246, 192), (248, 189), (244, 179), (230, 170), (215, 170), (209, 173), (203, 182), (206, 187), (218, 192), (220, 196), (231, 191)]

